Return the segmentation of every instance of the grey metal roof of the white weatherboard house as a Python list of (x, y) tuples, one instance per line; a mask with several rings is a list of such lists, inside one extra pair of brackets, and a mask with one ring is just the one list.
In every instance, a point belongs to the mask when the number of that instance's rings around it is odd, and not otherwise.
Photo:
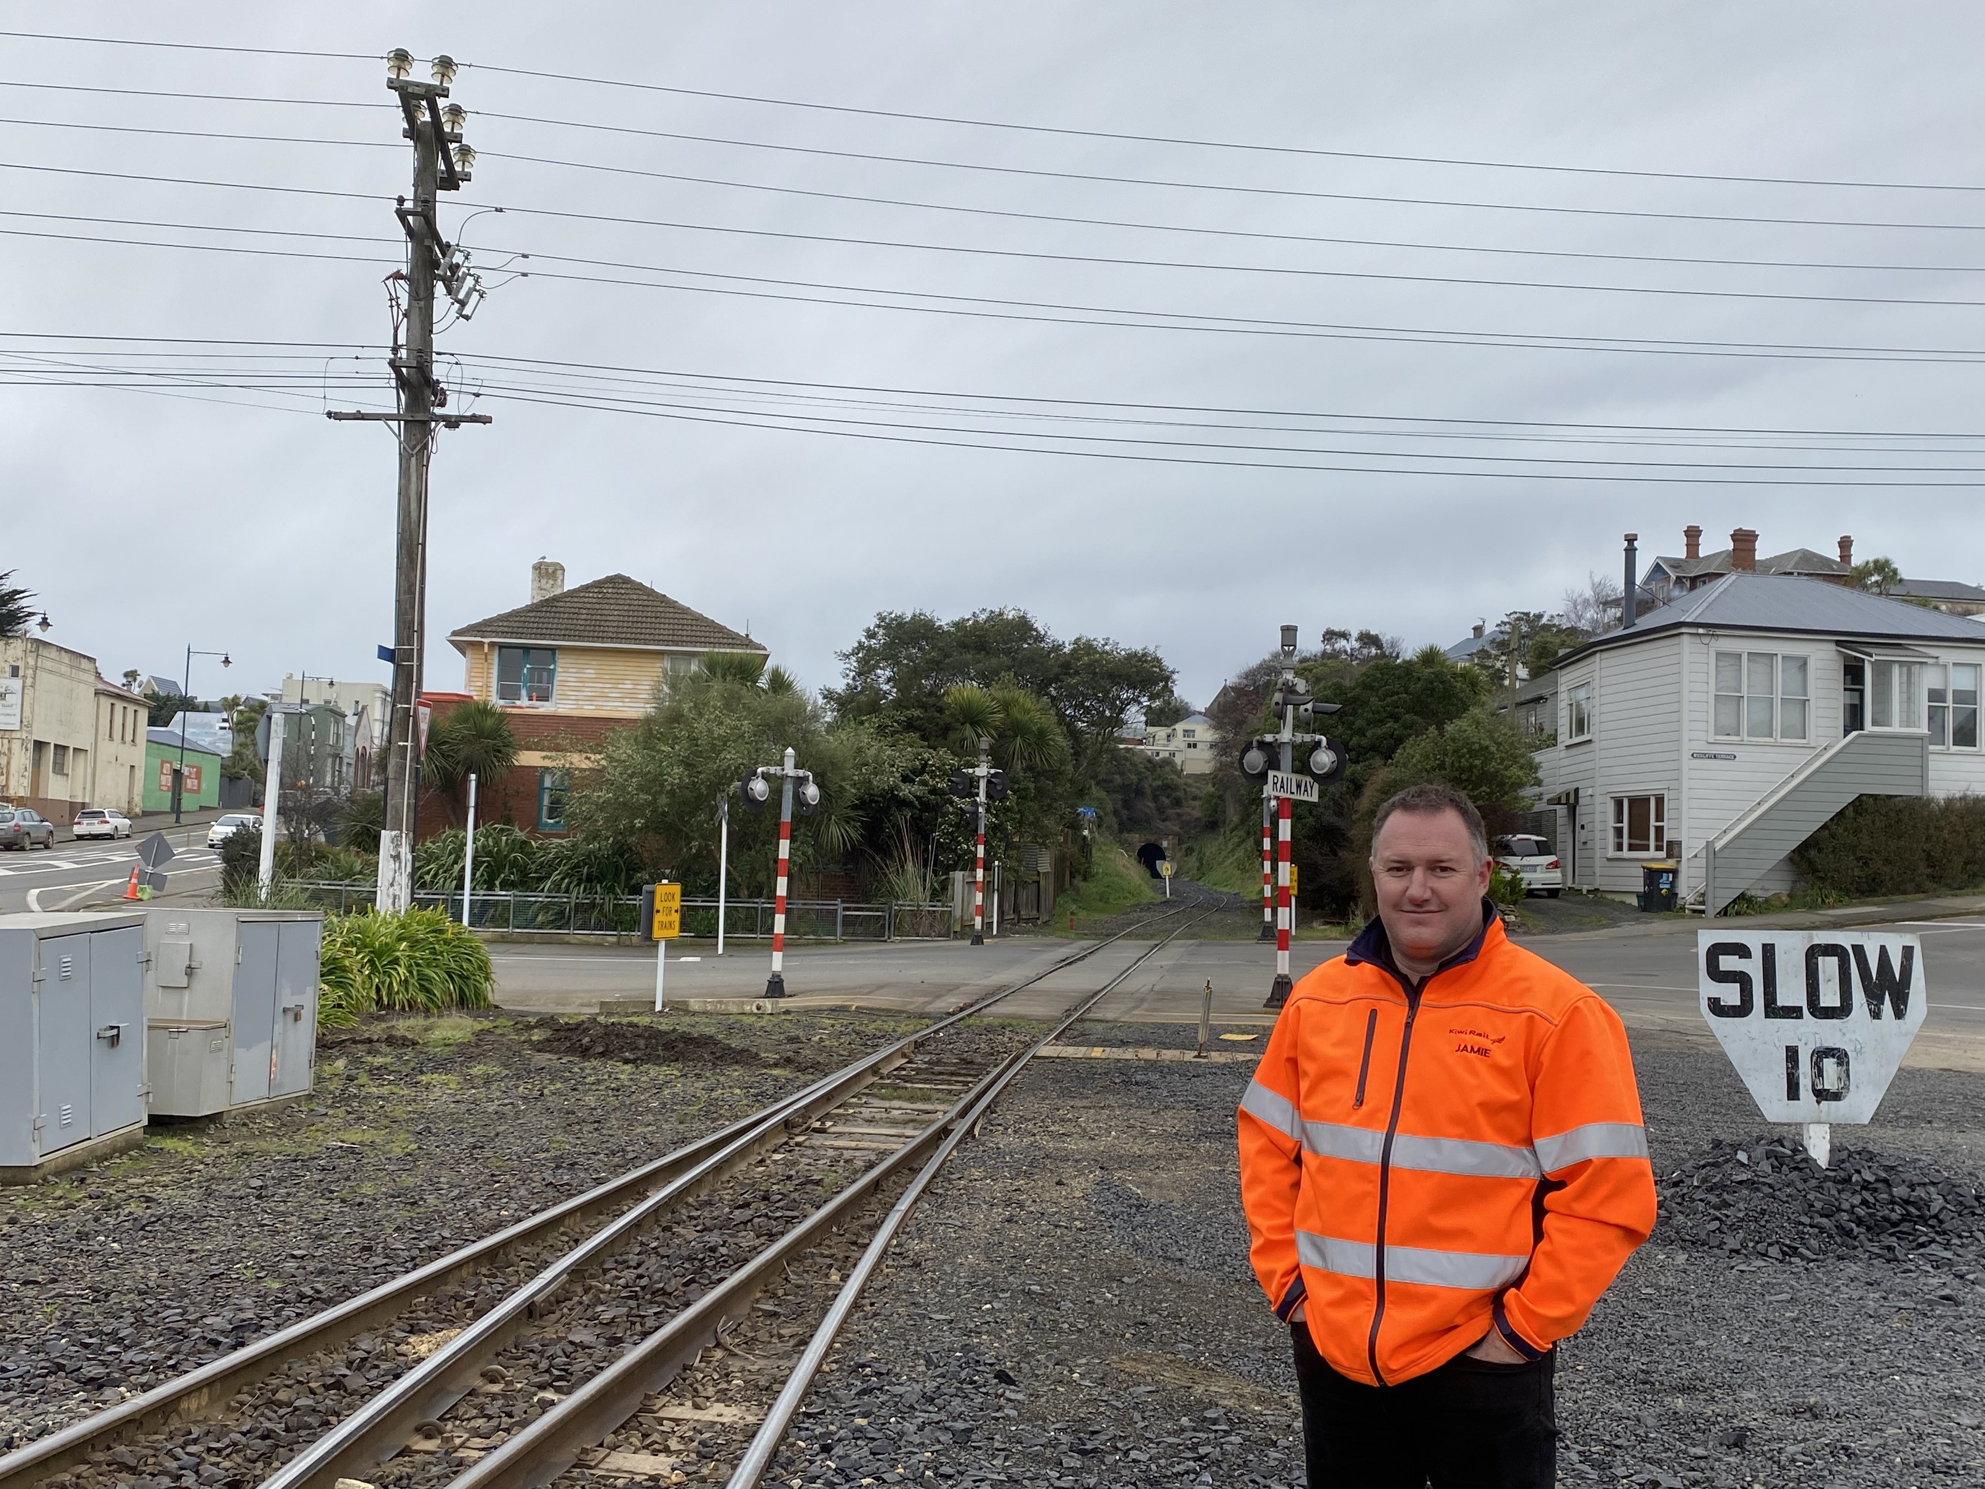
[(1655, 631), (1683, 625), (1723, 631), (1816, 631), (1838, 637), (1898, 639), (1898, 641), (1971, 641), (1979, 639), (1979, 623), (1941, 609), (1912, 606), (1904, 600), (1850, 590), (1826, 580), (1800, 580), (1786, 574), (1725, 574), (1693, 594), (1650, 609), (1632, 631), (1606, 631), (1586, 641), (1558, 661), (1598, 647), (1638, 641)]

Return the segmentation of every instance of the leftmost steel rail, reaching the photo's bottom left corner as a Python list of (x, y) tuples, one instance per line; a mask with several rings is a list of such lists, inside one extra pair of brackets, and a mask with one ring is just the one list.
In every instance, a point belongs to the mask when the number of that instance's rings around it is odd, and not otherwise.
[(214, 1416), (238, 1390), (264, 1380), (288, 1360), (320, 1354), (335, 1344), (355, 1338), (357, 1334), (379, 1328), (405, 1312), (415, 1298), (449, 1286), (453, 1281), (468, 1273), (500, 1265), (502, 1259), (518, 1247), (542, 1241), (562, 1229), (584, 1225), (601, 1211), (613, 1209), (629, 1197), (643, 1195), (655, 1185), (675, 1183), (685, 1173), (703, 1165), (713, 1153), (732, 1146), (740, 1136), (764, 1126), (772, 1118), (790, 1116), (826, 1088), (844, 1082), (852, 1072), (875, 1070), (877, 1074), (885, 1074), (895, 1064), (901, 1064), (901, 1060), (907, 1060), (917, 1044), (931, 1038), (939, 1030), (963, 1022), (994, 1003), (1000, 1003), (1002, 999), (1052, 977), (1054, 973), (1066, 971), (1088, 957), (1094, 957), (1098, 951), (1122, 941), (1131, 931), (1183, 913), (1183, 909), (1185, 907), (1165, 911), (1163, 915), (1153, 915), (1147, 921), (1129, 925), (1092, 947), (1084, 947), (1078, 953), (1058, 959), (1054, 965), (1014, 983), (1012, 987), (989, 993), (985, 999), (979, 999), (977, 1003), (947, 1015), (937, 1022), (903, 1036), (895, 1044), (863, 1056), (838, 1072), (822, 1076), (810, 1086), (802, 1086), (798, 1092), (782, 1096), (778, 1102), (772, 1102), (760, 1112), (738, 1118), (736, 1122), (719, 1128), (705, 1138), (697, 1138), (663, 1157), (594, 1185), (592, 1189), (542, 1209), (536, 1215), (526, 1215), (494, 1235), (486, 1235), (480, 1241), (472, 1241), (445, 1257), (437, 1257), (411, 1273), (387, 1279), (353, 1298), (345, 1298), (343, 1302), (312, 1314), (310, 1318), (300, 1318), (288, 1328), (244, 1344), (238, 1350), (230, 1350), (228, 1354), (208, 1360), (206, 1364), (175, 1376), (173, 1380), (161, 1382), (149, 1392), (133, 1396), (127, 1402), (119, 1402), (117, 1406), (105, 1408), (103, 1412), (87, 1416), (81, 1421), (73, 1421), (67, 1427), (48, 1433), (46, 1437), (36, 1437), (32, 1443), (0, 1455), (0, 1489), (40, 1483), (46, 1477), (83, 1463), (89, 1453), (97, 1449), (113, 1447), (121, 1441), (161, 1427), (173, 1418), (197, 1420)]

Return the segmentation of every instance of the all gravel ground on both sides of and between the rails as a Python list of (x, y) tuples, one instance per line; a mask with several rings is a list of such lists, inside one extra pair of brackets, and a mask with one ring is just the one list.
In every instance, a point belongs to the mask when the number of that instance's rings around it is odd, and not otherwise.
[[(308, 1104), (0, 1189), (0, 1243), (14, 1257), (0, 1290), (0, 1439), (42, 1435), (351, 1296), (919, 1024), (844, 1013), (371, 1024), (326, 1046)], [(1010, 1044), (1022, 1032), (983, 1036)], [(1179, 1024), (1068, 1034), (1173, 1048), (1193, 1038)], [(1634, 1044), (1661, 1217), (1562, 1346), (1562, 1481), (1985, 1483), (1985, 1082), (1900, 1072), (1876, 1124), (1834, 1130), (1822, 1173), (1796, 1130), (1759, 1120), (1707, 1036), (1636, 1032)], [(1217, 1048), (1258, 1052), (1260, 1040)], [(776, 1479), (1302, 1483), (1288, 1340), (1249, 1271), (1239, 1209), (1235, 1106), (1249, 1074), (1249, 1062), (1030, 1066), (911, 1217)], [(858, 1239), (824, 1245), (732, 1332), (730, 1350), (705, 1356), (685, 1378), (689, 1416), (657, 1408), (615, 1447), (665, 1455), (663, 1483), (721, 1481), (748, 1431), (717, 1433), (701, 1414), (723, 1416), (732, 1396), (762, 1406), (760, 1362), (812, 1328)], [(703, 1249), (715, 1267), (725, 1247)], [(282, 1449), (274, 1433), (335, 1420), (373, 1376), (403, 1368), (510, 1281), (437, 1298), (337, 1362), (270, 1382), (262, 1437)], [(679, 1279), (649, 1281), (667, 1292)], [(568, 1390), (590, 1336), (639, 1332), (647, 1312), (550, 1320), (576, 1348), (508, 1360), (512, 1390)], [(488, 1420), (514, 1420), (528, 1400), (498, 1414), (492, 1390)], [(113, 1459), (83, 1477), (230, 1489), (252, 1481), (240, 1457), (240, 1443), (220, 1439), (169, 1471)], [(443, 1465), (409, 1461), (383, 1477), (413, 1485)], [(611, 1481), (597, 1469), (576, 1477)]]

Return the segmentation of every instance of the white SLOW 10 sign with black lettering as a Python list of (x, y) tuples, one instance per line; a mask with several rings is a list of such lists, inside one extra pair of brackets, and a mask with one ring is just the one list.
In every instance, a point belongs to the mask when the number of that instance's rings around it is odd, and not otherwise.
[(1697, 931), (1695, 955), (1703, 1020), (1767, 1120), (1874, 1120), (1923, 1024), (1918, 937)]

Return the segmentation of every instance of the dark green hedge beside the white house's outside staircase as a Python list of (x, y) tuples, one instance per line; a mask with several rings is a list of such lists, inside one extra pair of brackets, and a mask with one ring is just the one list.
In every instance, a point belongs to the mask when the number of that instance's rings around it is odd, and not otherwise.
[(1860, 796), (1792, 868), (1806, 889), (1850, 899), (1971, 889), (1985, 881), (1985, 796)]

